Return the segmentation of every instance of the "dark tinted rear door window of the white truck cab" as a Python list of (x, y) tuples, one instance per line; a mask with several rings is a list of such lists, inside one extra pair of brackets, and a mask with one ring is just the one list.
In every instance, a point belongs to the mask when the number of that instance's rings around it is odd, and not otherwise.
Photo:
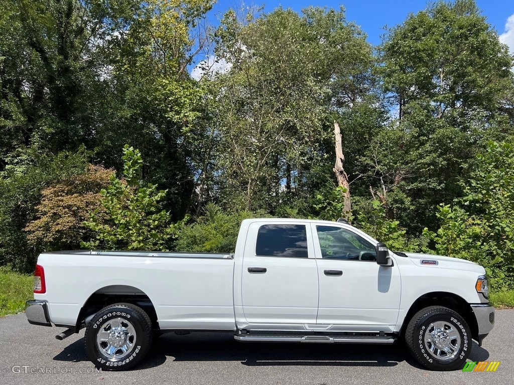
[(255, 254), (261, 257), (307, 258), (305, 225), (262, 225), (257, 233)]

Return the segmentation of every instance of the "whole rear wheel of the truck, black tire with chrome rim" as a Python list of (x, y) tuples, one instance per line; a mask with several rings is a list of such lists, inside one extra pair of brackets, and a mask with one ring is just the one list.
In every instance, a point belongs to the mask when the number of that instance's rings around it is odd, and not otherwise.
[(91, 319), (84, 335), (84, 348), (98, 368), (127, 370), (148, 353), (152, 336), (148, 314), (130, 303), (115, 303)]

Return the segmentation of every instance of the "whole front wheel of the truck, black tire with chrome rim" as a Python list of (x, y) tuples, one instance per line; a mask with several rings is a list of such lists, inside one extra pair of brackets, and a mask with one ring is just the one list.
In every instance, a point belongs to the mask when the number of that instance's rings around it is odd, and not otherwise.
[(412, 356), (424, 367), (437, 371), (464, 368), (471, 352), (466, 321), (448, 307), (430, 306), (417, 312), (405, 331)]

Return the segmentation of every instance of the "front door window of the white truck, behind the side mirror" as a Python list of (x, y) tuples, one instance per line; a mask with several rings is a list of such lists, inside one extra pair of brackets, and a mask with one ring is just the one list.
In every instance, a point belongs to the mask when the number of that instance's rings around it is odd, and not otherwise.
[(345, 228), (316, 226), (323, 259), (376, 261), (375, 246)]

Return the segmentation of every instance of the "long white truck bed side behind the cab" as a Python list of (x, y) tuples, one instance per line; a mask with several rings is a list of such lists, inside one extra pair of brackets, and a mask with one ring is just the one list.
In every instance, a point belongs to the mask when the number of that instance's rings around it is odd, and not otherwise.
[(52, 322), (75, 325), (95, 294), (148, 297), (161, 329), (235, 330), (231, 254), (65, 251), (40, 255)]

